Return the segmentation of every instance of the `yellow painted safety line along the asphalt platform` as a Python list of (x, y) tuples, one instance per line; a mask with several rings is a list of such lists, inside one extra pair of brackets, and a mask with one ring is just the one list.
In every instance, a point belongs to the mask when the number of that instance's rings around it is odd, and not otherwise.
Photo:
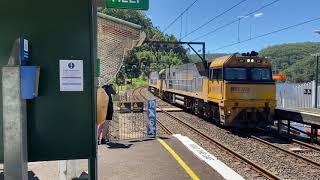
[(199, 180), (200, 178), (193, 172), (193, 170), (185, 163), (180, 156), (162, 139), (157, 139), (160, 144), (166, 148), (166, 150), (174, 157), (174, 159), (180, 164), (180, 166), (189, 174), (193, 180)]

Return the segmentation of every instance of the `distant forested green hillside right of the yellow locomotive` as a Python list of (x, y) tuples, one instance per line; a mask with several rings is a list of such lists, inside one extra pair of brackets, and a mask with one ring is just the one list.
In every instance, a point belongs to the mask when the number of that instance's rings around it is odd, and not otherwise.
[(320, 52), (320, 43), (305, 42), (275, 45), (260, 51), (260, 56), (272, 60), (275, 73), (287, 75), (287, 82), (308, 82), (315, 77), (315, 58)]

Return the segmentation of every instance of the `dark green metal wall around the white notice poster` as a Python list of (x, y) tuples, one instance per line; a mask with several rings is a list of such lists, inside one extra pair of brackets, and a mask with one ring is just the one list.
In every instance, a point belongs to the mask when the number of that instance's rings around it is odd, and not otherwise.
[[(12, 43), (22, 34), (31, 46), (31, 62), (41, 67), (39, 97), (28, 102), (29, 161), (84, 159), (96, 154), (91, 2), (0, 1), (0, 66), (7, 63)], [(61, 59), (83, 60), (83, 92), (60, 92)], [(2, 160), (2, 107), (0, 110)]]

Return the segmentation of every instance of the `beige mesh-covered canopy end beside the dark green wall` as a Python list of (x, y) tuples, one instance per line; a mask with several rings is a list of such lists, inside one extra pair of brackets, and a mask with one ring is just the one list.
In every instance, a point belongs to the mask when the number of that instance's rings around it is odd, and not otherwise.
[(140, 25), (102, 13), (97, 15), (97, 50), (100, 59), (99, 86), (110, 82), (120, 71), (125, 55), (146, 38)]

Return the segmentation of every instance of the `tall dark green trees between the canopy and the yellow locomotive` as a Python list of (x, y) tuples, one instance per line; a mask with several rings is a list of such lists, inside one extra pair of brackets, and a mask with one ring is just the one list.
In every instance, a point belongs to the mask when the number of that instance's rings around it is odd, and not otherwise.
[[(154, 27), (151, 19), (143, 11), (125, 9), (104, 9), (102, 13), (117, 17), (138, 25), (141, 25), (147, 34), (146, 41), (175, 42), (173, 35), (162, 33)], [(160, 71), (171, 65), (179, 65), (190, 62), (187, 50), (181, 45), (159, 45), (145, 43), (141, 47), (134, 48), (125, 57), (124, 66), (119, 73), (125, 77), (148, 76), (151, 71)]]

